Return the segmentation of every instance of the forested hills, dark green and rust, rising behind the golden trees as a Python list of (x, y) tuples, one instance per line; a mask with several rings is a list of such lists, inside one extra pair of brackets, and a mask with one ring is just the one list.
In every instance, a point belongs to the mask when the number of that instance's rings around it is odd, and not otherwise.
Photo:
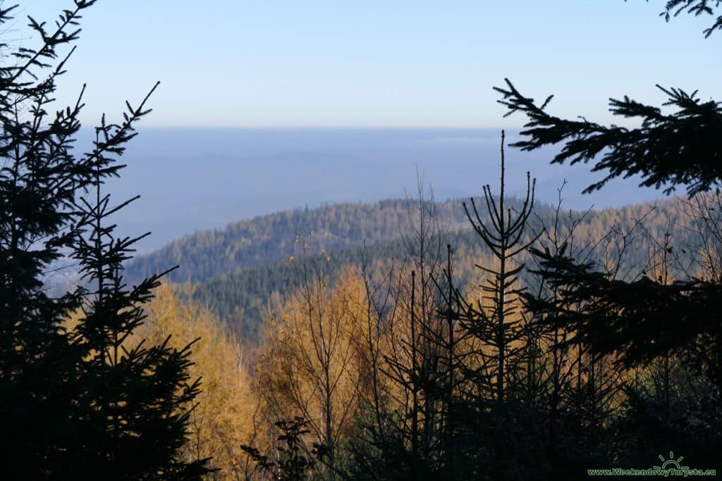
[[(674, 245), (690, 242), (688, 220), (681, 215), (686, 203), (683, 198), (669, 198), (588, 213), (562, 208), (560, 228), (568, 229), (575, 221), (578, 242), (590, 244), (591, 257), (600, 263), (612, 262), (622, 247), (620, 237), (610, 234), (630, 232), (624, 247), (624, 272), (620, 274), (633, 277), (647, 267), (649, 253), (656, 243), (664, 242), (668, 229), (674, 234)], [(513, 206), (518, 207), (519, 201)], [(481, 279), (474, 264), (487, 262), (490, 252), (479, 243), (466, 219), (462, 200), (436, 203), (435, 208), (441, 237), (438, 244), (444, 249), (451, 244), (457, 283), (467, 288), (476, 285)], [(373, 205), (339, 204), (256, 217), (231, 224), (223, 231), (202, 231), (179, 239), (139, 257), (129, 266), (129, 273), (138, 275), (143, 270), (179, 263), (181, 273), (174, 273), (173, 280), (185, 282), (190, 277), (195, 299), (211, 307), (241, 338), (256, 344), (261, 340), (264, 315), (303, 283), (304, 267), (311, 273), (322, 269), (331, 283), (345, 265), (360, 265), (362, 260), (374, 279), (401, 267), (409, 256), (409, 242), (404, 239), (413, 231), (417, 210), (418, 204), (409, 199)], [(554, 224), (554, 207), (540, 205), (534, 213), (527, 237), (532, 231), (541, 231), (543, 225)], [(261, 240), (251, 240), (256, 239), (255, 235)], [(193, 270), (196, 266), (201, 275)]]

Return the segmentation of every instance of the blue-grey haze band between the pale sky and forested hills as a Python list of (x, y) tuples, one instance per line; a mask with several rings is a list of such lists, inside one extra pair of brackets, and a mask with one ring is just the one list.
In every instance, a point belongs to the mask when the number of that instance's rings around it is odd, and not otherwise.
[[(482, 195), (499, 177), (501, 128), (144, 128), (121, 158), (127, 167), (108, 182), (113, 200), (142, 197), (116, 214), (118, 234), (152, 235), (149, 252), (173, 239), (231, 221), (323, 203), (375, 202), (416, 195), (417, 172), (436, 200)], [(507, 129), (507, 144), (518, 129)], [(90, 132), (79, 138), (87, 151)], [(550, 165), (555, 151), (506, 149), (508, 195), (521, 195), (526, 171), (536, 200), (575, 210), (619, 207), (664, 197), (614, 180), (601, 192), (582, 190), (602, 173), (588, 165)]]

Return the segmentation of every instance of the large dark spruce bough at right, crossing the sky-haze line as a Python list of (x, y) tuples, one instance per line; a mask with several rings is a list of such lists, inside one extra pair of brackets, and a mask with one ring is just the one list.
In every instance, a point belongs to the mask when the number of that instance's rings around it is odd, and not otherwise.
[(601, 156), (592, 171), (609, 170), (609, 173), (589, 185), (586, 193), (601, 189), (614, 177), (632, 175), (642, 177), (640, 186), (666, 186), (666, 193), (673, 192), (677, 185), (685, 185), (690, 195), (709, 190), (722, 179), (721, 154), (716, 141), (722, 128), (722, 107), (714, 100), (700, 102), (696, 91), (689, 94), (682, 89), (657, 86), (669, 96), (664, 105), (677, 107), (677, 112), (671, 114), (629, 97), (610, 100), (609, 110), (614, 115), (640, 120), (640, 127), (626, 128), (586, 119), (554, 117), (545, 111), (553, 95), (537, 105), (534, 99), (524, 97), (509, 79), (505, 81), (505, 88), (495, 89), (503, 95), (499, 102), (509, 108), (507, 115), (523, 112), (529, 117), (529, 123), (521, 132), (529, 139), (512, 146), (529, 151), (563, 142), (564, 148), (552, 160), (557, 164), (586, 163)]

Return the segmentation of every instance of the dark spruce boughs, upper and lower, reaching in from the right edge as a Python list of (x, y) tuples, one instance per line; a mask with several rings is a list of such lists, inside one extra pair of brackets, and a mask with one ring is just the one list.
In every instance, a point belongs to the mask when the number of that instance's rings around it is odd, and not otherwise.
[[(716, 10), (718, 2), (680, 0), (669, 1), (663, 13), (669, 18), (685, 11), (714, 14)], [(719, 19), (705, 30), (705, 35), (718, 28)], [(507, 115), (523, 112), (529, 118), (521, 132), (525, 138), (513, 146), (529, 151), (561, 142), (564, 146), (552, 163), (595, 162), (593, 172), (609, 171), (585, 192), (601, 189), (614, 177), (632, 175), (642, 178), (640, 187), (664, 187), (666, 193), (671, 193), (677, 186), (684, 186), (690, 196), (712, 190), (722, 181), (721, 102), (701, 102), (696, 91), (688, 94), (682, 89), (657, 86), (669, 97), (665, 106), (676, 111), (665, 113), (661, 107), (628, 97), (612, 99), (609, 105), (614, 115), (640, 121), (637, 128), (625, 128), (584, 118), (557, 118), (546, 110), (552, 96), (538, 105), (508, 79), (506, 84), (495, 89), (503, 95), (499, 102), (508, 107)], [(717, 282), (690, 279), (664, 285), (643, 278), (630, 283), (597, 272), (590, 262), (577, 263), (564, 255), (533, 252), (543, 266), (539, 274), (550, 285), (563, 289), (568, 300), (586, 305), (581, 313), (558, 312), (556, 319), (577, 332), (570, 342), (593, 340), (591, 348), (596, 353), (617, 353), (620, 361), (634, 365), (719, 330), (720, 319), (710, 315), (718, 312), (715, 307), (721, 287)], [(554, 310), (554, 306), (537, 302), (534, 296), (528, 299), (534, 310)]]

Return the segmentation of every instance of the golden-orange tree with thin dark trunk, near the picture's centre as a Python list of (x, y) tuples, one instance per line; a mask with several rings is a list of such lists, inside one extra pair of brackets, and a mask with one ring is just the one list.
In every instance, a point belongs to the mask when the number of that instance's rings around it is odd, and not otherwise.
[(276, 419), (300, 415), (311, 435), (328, 448), (326, 477), (336, 475), (339, 451), (357, 409), (362, 281), (343, 270), (334, 288), (323, 274), (305, 275), (303, 286), (269, 319), (258, 363), (261, 399)]

